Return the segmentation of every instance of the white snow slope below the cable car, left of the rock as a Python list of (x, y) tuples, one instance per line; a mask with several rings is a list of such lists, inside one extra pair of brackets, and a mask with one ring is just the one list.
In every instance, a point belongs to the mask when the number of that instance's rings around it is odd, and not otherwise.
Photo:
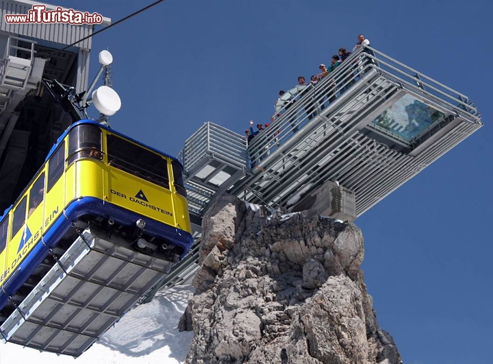
[(77, 359), (0, 342), (0, 363), (183, 363), (193, 332), (179, 332), (177, 325), (192, 292), (192, 286), (158, 292), (151, 302), (131, 309)]

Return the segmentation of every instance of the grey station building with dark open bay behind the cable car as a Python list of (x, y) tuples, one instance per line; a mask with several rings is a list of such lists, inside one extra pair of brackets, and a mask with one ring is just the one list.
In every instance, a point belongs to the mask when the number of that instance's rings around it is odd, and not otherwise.
[[(22, 192), (58, 136), (71, 123), (40, 80), (86, 90), (92, 39), (61, 51), (94, 31), (94, 25), (9, 24), (5, 14), (27, 14), (37, 1), (0, 4), (0, 210)], [(46, 5), (47, 10), (57, 7)], [(103, 19), (109, 24), (110, 19)]]

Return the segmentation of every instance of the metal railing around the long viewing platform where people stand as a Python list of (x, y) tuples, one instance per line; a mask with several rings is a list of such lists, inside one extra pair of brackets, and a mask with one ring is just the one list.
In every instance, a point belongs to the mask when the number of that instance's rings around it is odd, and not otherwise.
[[(437, 82), (415, 69), (386, 56), (370, 47), (353, 52), (334, 71), (315, 85), (296, 95), (276, 112), (275, 121), (257, 134), (248, 147), (250, 167), (261, 164), (270, 154), (297, 134), (316, 114), (330, 106), (333, 101), (349, 92), (351, 88), (364, 87), (360, 80), (365, 75), (383, 75), (408, 93), (419, 93), (429, 104), (443, 109), (453, 109), (465, 119), (479, 122), (481, 114), (468, 97)], [(358, 85), (359, 84), (359, 85)], [(420, 90), (421, 92), (420, 92)], [(263, 164), (263, 163), (262, 163)]]

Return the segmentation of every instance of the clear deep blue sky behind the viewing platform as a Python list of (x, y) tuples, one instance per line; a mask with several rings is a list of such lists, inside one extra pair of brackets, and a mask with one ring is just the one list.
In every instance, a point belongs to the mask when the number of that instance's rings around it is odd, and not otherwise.
[[(152, 1), (53, 1), (117, 21)], [(242, 133), (280, 89), (364, 33), (464, 93), (485, 126), (357, 219), (366, 284), (407, 364), (491, 363), (492, 1), (167, 0), (94, 37), (114, 56), (112, 127), (168, 154), (205, 121)]]

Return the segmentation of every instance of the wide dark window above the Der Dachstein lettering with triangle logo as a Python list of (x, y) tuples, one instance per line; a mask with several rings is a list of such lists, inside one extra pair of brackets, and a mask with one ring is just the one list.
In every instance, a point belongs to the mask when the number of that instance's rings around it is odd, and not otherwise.
[(169, 189), (166, 158), (112, 134), (106, 140), (108, 165)]

